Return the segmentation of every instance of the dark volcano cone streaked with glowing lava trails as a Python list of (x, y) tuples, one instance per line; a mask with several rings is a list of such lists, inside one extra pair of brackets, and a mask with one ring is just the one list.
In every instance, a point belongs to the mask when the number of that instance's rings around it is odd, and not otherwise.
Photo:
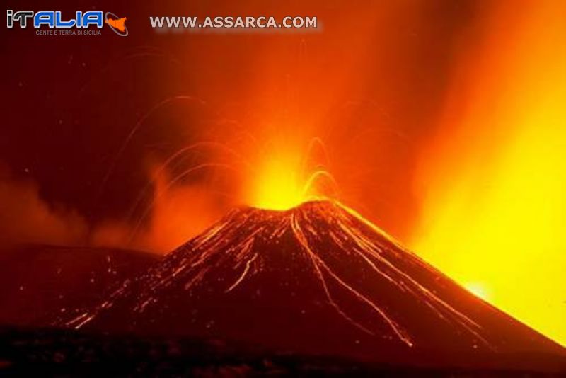
[(67, 325), (385, 360), (563, 353), (328, 201), (233, 210)]

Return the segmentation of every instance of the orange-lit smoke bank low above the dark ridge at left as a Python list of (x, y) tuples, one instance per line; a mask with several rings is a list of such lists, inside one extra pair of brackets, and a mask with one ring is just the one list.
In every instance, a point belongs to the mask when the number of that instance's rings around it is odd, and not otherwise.
[(221, 217), (202, 185), (168, 188), (154, 177), (154, 195), (145, 218), (87, 221), (78, 210), (48, 202), (33, 180), (21, 180), (0, 162), (0, 247), (18, 244), (104, 246), (166, 253)]

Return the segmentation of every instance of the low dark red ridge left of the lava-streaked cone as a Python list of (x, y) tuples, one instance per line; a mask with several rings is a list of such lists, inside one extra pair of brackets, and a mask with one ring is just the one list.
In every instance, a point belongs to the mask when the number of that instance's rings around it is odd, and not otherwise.
[(49, 326), (54, 316), (96, 306), (111, 292), (109, 288), (144, 273), (158, 260), (152, 253), (115, 248), (42, 244), (3, 248), (0, 327)]

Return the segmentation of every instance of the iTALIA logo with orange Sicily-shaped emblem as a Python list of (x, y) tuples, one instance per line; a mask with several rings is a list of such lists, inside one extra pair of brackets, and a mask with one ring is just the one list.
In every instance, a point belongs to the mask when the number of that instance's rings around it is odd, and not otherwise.
[(98, 28), (108, 25), (110, 29), (117, 35), (125, 37), (128, 35), (128, 29), (125, 25), (126, 18), (119, 18), (114, 13), (103, 11), (76, 11), (74, 18), (63, 18), (61, 11), (6, 11), (6, 26), (13, 28), (18, 25), (20, 28), (27, 28), (28, 23), (33, 28)]

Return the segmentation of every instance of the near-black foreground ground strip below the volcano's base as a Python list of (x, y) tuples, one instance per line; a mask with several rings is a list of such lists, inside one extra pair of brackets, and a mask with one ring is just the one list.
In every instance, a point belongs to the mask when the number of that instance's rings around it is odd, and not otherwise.
[[(446, 353), (444, 357), (448, 357)], [(566, 374), (566, 359), (545, 354), (469, 353), (419, 363), (352, 360), (274, 352), (203, 338), (103, 336), (64, 330), (0, 331), (1, 376), (367, 375), (393, 377), (539, 377)]]

